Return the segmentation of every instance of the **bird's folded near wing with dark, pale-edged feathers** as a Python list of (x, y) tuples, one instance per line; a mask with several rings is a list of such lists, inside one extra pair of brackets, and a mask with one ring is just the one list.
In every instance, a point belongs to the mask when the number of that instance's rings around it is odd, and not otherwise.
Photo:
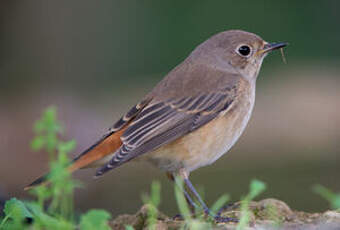
[(215, 90), (193, 96), (153, 99), (128, 125), (122, 146), (96, 176), (200, 128), (231, 107), (237, 90), (233, 81), (228, 87), (216, 85)]

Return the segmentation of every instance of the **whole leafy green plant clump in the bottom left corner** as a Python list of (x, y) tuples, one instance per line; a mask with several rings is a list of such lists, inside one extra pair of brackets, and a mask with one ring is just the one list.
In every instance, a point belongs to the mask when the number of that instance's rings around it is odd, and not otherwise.
[[(81, 229), (108, 230), (107, 221), (110, 214), (104, 210), (90, 210), (81, 215), (76, 223), (73, 210), (73, 191), (79, 183), (71, 178), (67, 166), (70, 161), (68, 154), (74, 149), (75, 141), (62, 141), (63, 127), (57, 120), (55, 107), (49, 107), (34, 125), (36, 136), (31, 147), (33, 150), (45, 150), (49, 154), (50, 185), (32, 189), (36, 200), (24, 202), (12, 198), (6, 202), (5, 217), (0, 229)], [(48, 202), (49, 201), (49, 202)]]

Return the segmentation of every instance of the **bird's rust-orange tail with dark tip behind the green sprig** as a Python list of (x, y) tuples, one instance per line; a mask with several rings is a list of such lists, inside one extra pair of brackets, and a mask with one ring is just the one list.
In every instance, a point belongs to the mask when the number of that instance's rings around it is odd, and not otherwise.
[[(125, 129), (126, 127), (117, 132), (105, 135), (97, 143), (85, 150), (72, 161), (72, 164), (68, 167), (69, 172), (72, 173), (81, 168), (104, 164), (105, 162), (100, 162), (100, 160), (105, 159), (106, 156), (112, 155), (122, 145), (120, 136)], [(28, 190), (40, 184), (47, 184), (47, 175), (48, 174), (45, 174), (39, 177), (24, 189)]]

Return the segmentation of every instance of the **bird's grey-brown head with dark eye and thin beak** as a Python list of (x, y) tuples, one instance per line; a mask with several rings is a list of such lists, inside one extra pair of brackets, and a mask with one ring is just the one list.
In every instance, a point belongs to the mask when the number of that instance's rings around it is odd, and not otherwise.
[(264, 57), (286, 45), (285, 42), (268, 43), (258, 35), (242, 30), (228, 30), (202, 43), (193, 54), (209, 59), (210, 64), (253, 80), (259, 73)]

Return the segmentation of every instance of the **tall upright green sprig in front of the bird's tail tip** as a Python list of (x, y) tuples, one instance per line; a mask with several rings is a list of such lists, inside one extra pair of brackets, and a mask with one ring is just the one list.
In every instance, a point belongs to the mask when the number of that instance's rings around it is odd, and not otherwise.
[(33, 150), (45, 150), (49, 154), (50, 173), (48, 180), (50, 187), (38, 186), (32, 193), (37, 196), (39, 207), (42, 209), (44, 201), (51, 199), (49, 213), (59, 213), (65, 219), (73, 218), (73, 190), (77, 182), (71, 178), (66, 169), (70, 164), (68, 154), (75, 148), (76, 142), (62, 141), (59, 136), (64, 129), (57, 120), (55, 107), (49, 107), (42, 118), (35, 122), (35, 138), (31, 143)]

